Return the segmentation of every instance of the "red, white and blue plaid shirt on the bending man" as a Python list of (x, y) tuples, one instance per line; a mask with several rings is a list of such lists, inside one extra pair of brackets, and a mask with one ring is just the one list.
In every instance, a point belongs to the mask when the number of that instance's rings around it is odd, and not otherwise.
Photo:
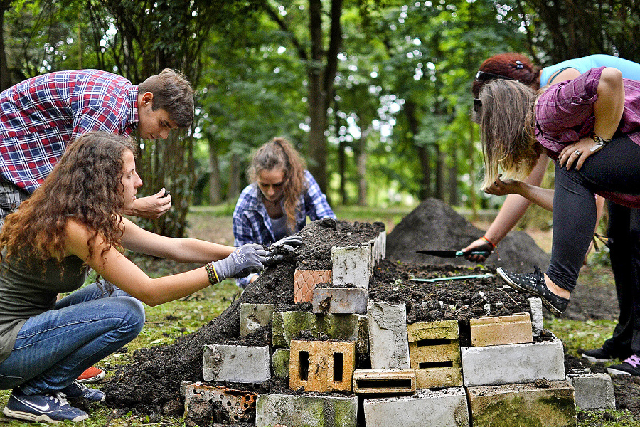
[(138, 86), (100, 70), (30, 78), (0, 93), (0, 180), (32, 193), (90, 130), (129, 136), (137, 127)]

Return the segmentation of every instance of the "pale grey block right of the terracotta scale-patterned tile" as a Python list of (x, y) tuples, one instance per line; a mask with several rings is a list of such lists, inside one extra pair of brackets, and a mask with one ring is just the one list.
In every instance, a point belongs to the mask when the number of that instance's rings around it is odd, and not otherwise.
[(331, 247), (334, 285), (353, 284), (357, 288), (369, 288), (369, 277), (373, 272), (370, 246)]

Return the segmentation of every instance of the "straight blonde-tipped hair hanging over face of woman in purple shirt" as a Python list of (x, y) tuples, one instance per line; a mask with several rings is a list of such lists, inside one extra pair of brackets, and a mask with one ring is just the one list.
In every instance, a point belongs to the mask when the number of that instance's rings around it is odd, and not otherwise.
[(515, 80), (492, 80), (479, 94), (472, 119), (480, 125), (484, 154), (484, 181), (490, 186), (502, 169), (507, 177), (530, 174), (542, 152), (535, 143), (533, 106), (535, 91)]

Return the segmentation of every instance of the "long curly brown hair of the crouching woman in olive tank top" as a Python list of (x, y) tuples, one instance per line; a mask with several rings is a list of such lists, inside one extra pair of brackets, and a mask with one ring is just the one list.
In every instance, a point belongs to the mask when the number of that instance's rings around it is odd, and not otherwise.
[(98, 235), (105, 238), (104, 255), (120, 247), (124, 194), (122, 174), (125, 150), (135, 153), (132, 139), (107, 132), (88, 132), (69, 145), (43, 185), (6, 217), (0, 233), (0, 251), (6, 257), (65, 257), (65, 226), (69, 218), (90, 230), (90, 256)]

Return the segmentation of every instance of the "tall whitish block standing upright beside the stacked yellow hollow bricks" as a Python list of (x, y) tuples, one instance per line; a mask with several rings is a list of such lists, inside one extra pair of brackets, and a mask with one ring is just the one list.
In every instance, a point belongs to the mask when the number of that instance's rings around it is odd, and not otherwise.
[(369, 353), (373, 369), (407, 369), (409, 342), (405, 304), (369, 301)]

